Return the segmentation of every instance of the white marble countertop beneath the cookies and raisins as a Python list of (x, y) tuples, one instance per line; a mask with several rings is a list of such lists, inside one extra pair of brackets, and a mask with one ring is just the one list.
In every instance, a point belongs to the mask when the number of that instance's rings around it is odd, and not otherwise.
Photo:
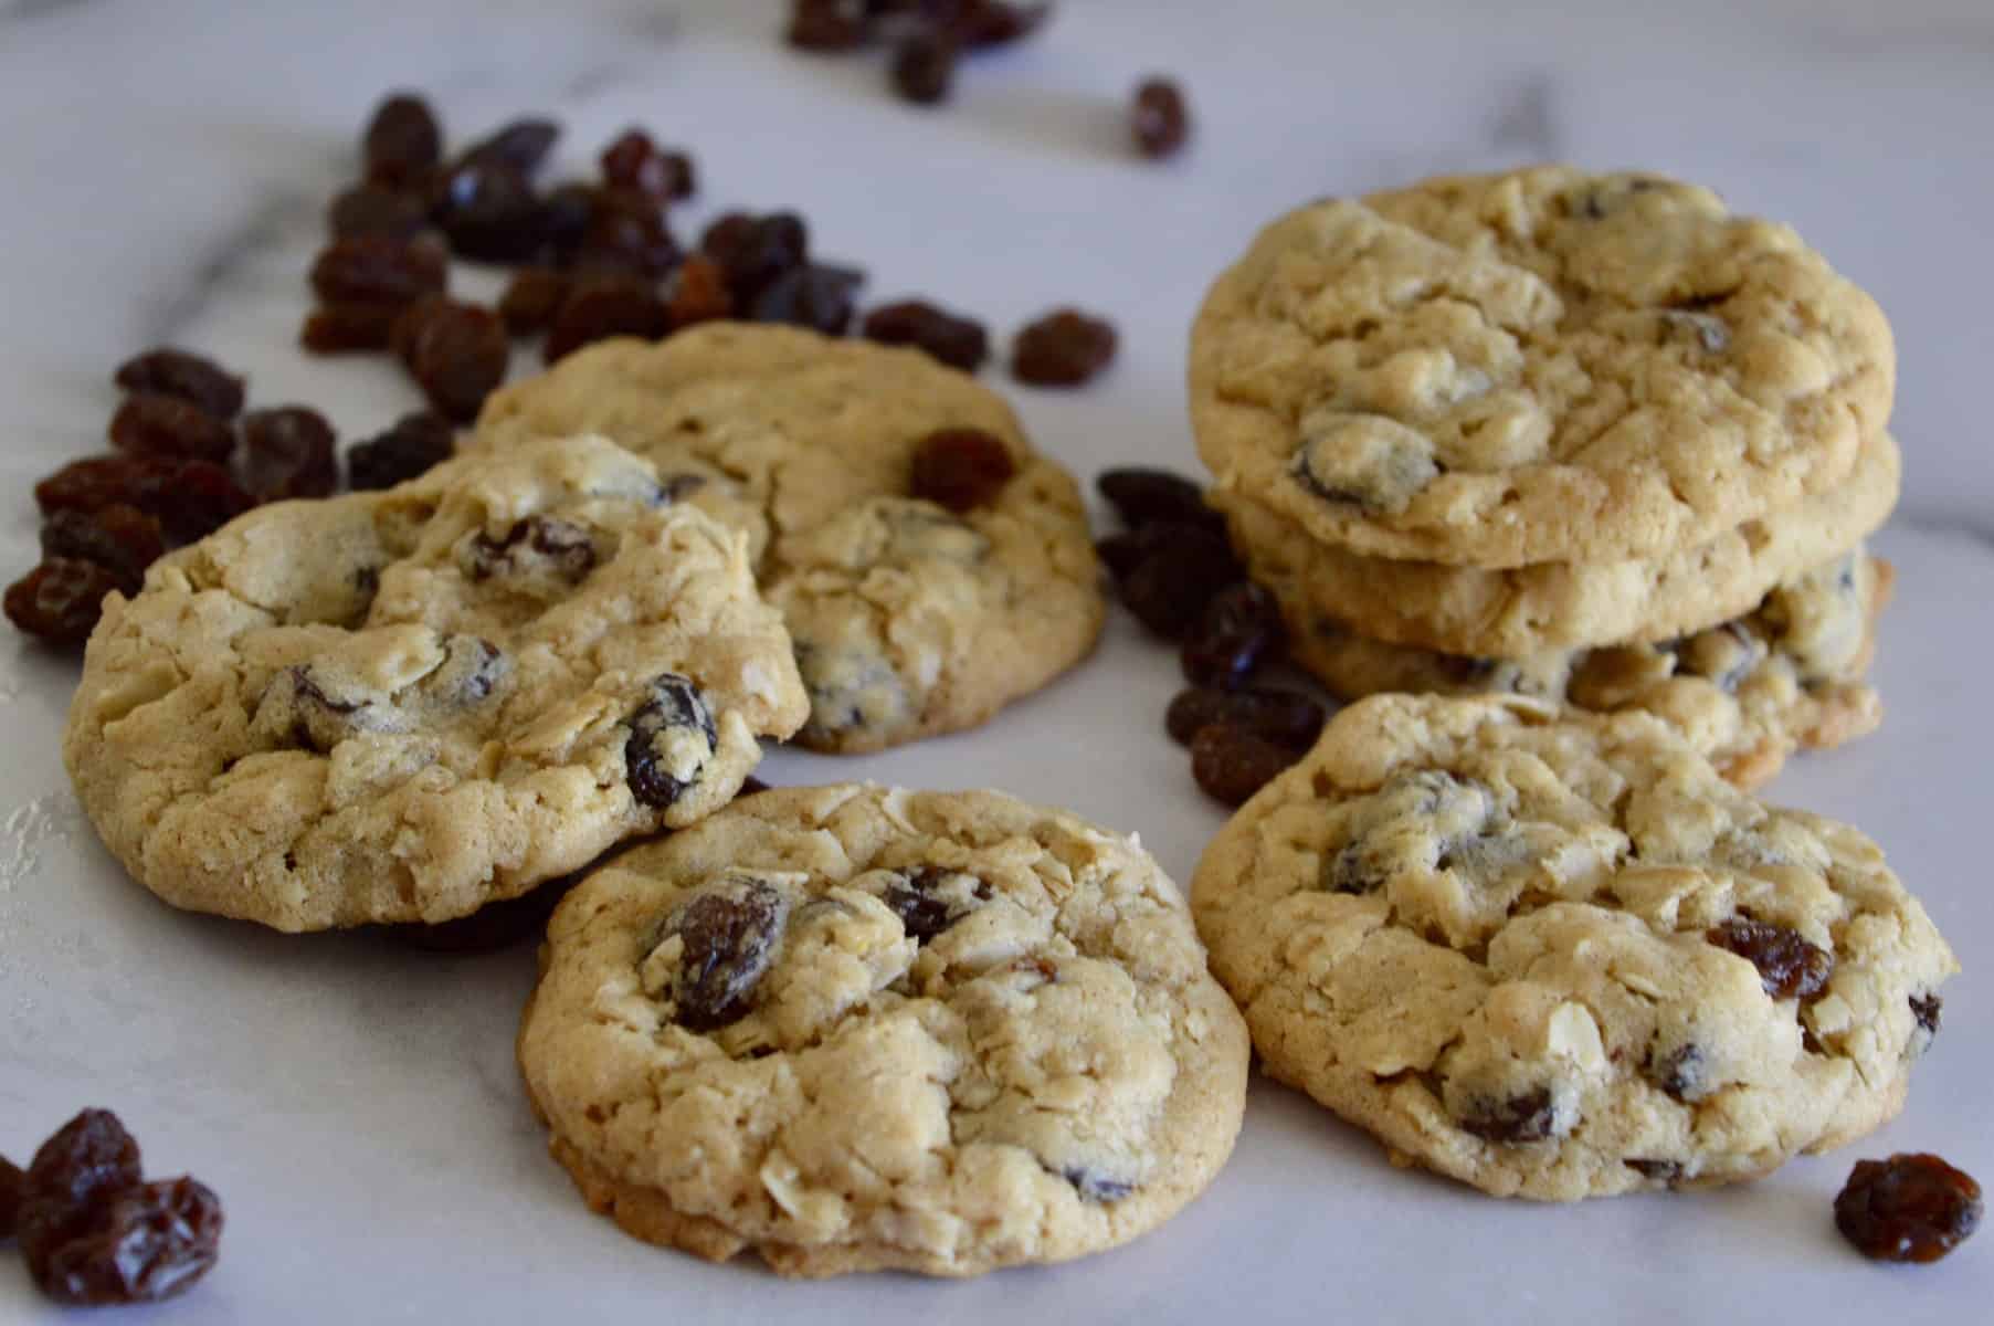
[[(98, 449), (110, 369), (140, 347), (213, 353), (249, 371), (257, 403), (315, 403), (347, 435), (413, 407), (385, 361), (293, 349), (319, 207), (389, 86), (429, 90), (459, 134), (554, 114), (574, 169), (648, 124), (698, 156), (696, 217), (798, 205), (822, 253), (869, 267), (871, 299), (927, 293), (995, 329), (1059, 301), (1115, 315), (1125, 349), (1097, 389), (1007, 387), (1081, 475), (1190, 467), (1184, 327), (1274, 211), (1539, 158), (1681, 173), (1799, 225), (1898, 333), (1908, 477), (1880, 538), (1900, 590), (1876, 664), (1890, 716), (1771, 794), (1878, 837), (1966, 965), (1910, 1107), (1747, 1188), (1549, 1208), (1392, 1170), (1256, 1083), (1208, 1196), (1127, 1250), (973, 1284), (714, 1268), (590, 1216), (546, 1159), (510, 1061), (530, 949), (445, 959), (167, 911), (66, 788), (74, 666), (0, 632), (0, 1151), (24, 1159), (108, 1105), (152, 1168), (193, 1168), (229, 1210), (195, 1294), (116, 1320), (1984, 1320), (1994, 1234), (1940, 1266), (1880, 1268), (1838, 1242), (1828, 1198), (1856, 1155), (1902, 1149), (1994, 1180), (1994, 6), (1069, 0), (929, 114), (887, 98), (867, 60), (784, 50), (780, 8), (0, 0), (8, 578), (34, 560), (30, 483)], [(1149, 70), (1180, 76), (1198, 114), (1192, 152), (1161, 167), (1121, 144)], [(1186, 879), (1220, 814), (1161, 732), (1174, 684), (1170, 656), (1117, 618), (1093, 662), (985, 732), (867, 760), (782, 752), (770, 778), (1019, 790), (1139, 829)], [(0, 1256), (0, 1320), (44, 1316)]]

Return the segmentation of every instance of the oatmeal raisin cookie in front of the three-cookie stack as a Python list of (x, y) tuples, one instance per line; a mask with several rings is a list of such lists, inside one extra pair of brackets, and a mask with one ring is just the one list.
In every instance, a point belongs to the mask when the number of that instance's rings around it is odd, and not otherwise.
[(1904, 1103), (1952, 951), (1856, 829), (1645, 714), (1378, 696), (1192, 885), (1266, 1071), (1398, 1162), (1571, 1200), (1753, 1178)]

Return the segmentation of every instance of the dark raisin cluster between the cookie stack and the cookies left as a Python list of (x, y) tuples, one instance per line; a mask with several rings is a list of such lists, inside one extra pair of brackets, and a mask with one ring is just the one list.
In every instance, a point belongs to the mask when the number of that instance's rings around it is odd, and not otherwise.
[(1190, 682), (1164, 728), (1190, 748), (1198, 786), (1238, 806), (1300, 760), (1326, 720), (1310, 696), (1250, 684), (1282, 654), (1280, 608), (1246, 578), (1198, 485), (1155, 469), (1107, 471), (1097, 485), (1129, 526), (1101, 540), (1101, 560), (1137, 620), (1178, 642)]

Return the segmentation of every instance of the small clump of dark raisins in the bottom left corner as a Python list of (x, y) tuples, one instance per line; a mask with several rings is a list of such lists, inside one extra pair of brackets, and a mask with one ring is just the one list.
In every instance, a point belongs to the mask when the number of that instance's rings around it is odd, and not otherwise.
[(183, 1294), (221, 1250), (221, 1198), (197, 1178), (146, 1182), (118, 1115), (86, 1109), (26, 1170), (0, 1157), (0, 1240), (14, 1236), (36, 1288), (60, 1304)]

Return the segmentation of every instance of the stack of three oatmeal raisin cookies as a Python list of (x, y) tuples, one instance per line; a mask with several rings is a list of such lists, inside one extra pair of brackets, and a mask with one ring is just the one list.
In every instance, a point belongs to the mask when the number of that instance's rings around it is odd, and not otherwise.
[(1212, 500), (1332, 692), (1647, 710), (1739, 786), (1880, 720), (1892, 389), (1791, 229), (1565, 167), (1302, 207), (1190, 351)]

